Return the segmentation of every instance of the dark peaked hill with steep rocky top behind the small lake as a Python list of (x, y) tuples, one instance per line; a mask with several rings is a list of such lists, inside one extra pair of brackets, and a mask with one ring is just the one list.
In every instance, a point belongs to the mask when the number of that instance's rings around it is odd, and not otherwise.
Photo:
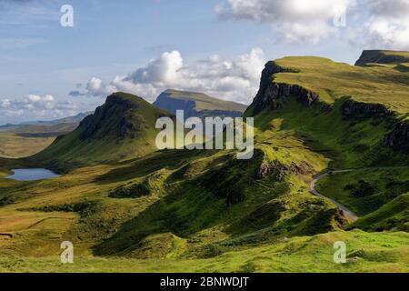
[(33, 156), (55, 168), (111, 163), (156, 150), (157, 118), (173, 116), (136, 95), (115, 93), (68, 135)]

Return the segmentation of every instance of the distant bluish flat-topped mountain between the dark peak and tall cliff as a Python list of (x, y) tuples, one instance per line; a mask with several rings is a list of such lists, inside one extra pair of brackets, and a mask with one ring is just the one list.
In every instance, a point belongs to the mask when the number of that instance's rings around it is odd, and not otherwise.
[(165, 109), (173, 114), (176, 110), (184, 110), (185, 118), (197, 116), (231, 116), (243, 115), (246, 105), (224, 101), (203, 93), (166, 90), (159, 95), (155, 106)]

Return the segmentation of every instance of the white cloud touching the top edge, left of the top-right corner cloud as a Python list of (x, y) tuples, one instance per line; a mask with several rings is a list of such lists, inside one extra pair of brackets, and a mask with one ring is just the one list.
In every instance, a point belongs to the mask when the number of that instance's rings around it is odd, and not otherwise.
[(227, 0), (215, 7), (222, 19), (252, 20), (272, 25), (277, 41), (317, 43), (334, 35), (334, 18), (355, 0)]

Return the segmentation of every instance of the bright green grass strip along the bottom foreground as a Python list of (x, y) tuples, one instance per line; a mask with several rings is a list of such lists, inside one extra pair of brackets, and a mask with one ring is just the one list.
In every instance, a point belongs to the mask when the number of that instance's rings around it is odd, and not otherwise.
[[(75, 256), (62, 265), (59, 256), (0, 257), (0, 272), (408, 272), (407, 233), (354, 230), (284, 239), (274, 245), (233, 251), (208, 259), (124, 259)], [(347, 263), (334, 263), (334, 242), (344, 241)]]

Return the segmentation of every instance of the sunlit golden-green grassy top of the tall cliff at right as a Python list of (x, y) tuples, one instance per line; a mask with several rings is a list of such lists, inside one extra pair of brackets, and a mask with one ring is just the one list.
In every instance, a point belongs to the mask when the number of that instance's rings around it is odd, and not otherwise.
[(327, 103), (343, 96), (366, 103), (387, 105), (401, 115), (409, 112), (409, 75), (394, 67), (361, 67), (334, 63), (322, 57), (285, 57), (277, 65), (299, 73), (275, 75), (277, 83), (302, 85), (318, 93)]

